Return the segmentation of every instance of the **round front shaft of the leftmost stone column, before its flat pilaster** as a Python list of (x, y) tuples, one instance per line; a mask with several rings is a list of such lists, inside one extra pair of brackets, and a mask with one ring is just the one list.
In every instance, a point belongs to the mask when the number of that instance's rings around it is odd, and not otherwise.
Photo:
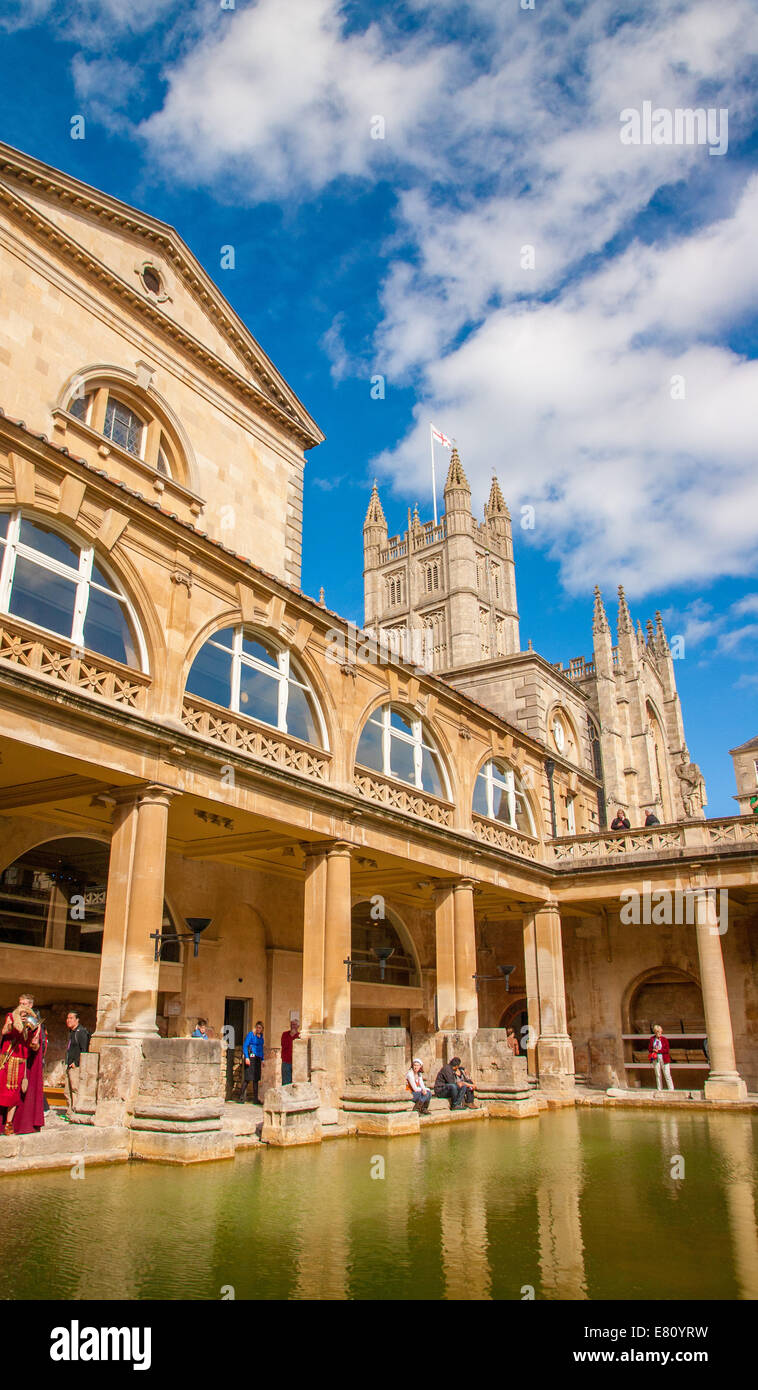
[(117, 1033), (127, 1038), (157, 1036), (159, 969), (150, 933), (163, 923), (168, 806), (175, 792), (145, 787), (136, 798), (136, 828), (124, 952), (121, 1016)]

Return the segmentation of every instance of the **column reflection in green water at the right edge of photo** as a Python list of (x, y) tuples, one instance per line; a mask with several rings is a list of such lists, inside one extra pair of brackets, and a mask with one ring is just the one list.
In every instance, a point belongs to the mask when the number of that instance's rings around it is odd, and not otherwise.
[(723, 1188), (740, 1297), (758, 1298), (752, 1119), (750, 1115), (709, 1115), (708, 1129), (725, 1168)]

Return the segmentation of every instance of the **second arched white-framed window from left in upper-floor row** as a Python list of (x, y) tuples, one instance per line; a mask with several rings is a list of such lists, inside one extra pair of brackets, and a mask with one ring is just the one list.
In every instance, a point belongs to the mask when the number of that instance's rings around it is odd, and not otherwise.
[(288, 649), (245, 627), (213, 634), (192, 663), (186, 689), (305, 744), (327, 746), (321, 710)]

